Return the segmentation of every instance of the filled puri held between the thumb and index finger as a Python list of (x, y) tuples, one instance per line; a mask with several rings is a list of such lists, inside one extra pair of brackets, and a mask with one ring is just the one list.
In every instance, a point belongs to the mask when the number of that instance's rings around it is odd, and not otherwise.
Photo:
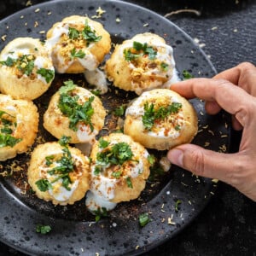
[(125, 134), (145, 148), (166, 150), (190, 143), (197, 129), (195, 108), (172, 90), (143, 92), (125, 112)]

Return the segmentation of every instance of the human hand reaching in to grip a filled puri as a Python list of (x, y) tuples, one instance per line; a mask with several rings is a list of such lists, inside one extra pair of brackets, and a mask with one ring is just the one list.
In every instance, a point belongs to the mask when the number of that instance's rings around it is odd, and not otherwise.
[(172, 148), (167, 158), (195, 175), (229, 183), (256, 201), (256, 67), (243, 62), (212, 79), (189, 79), (172, 84), (172, 90), (186, 98), (205, 100), (209, 114), (223, 108), (232, 115), (233, 128), (242, 130), (242, 136), (235, 154), (183, 144)]

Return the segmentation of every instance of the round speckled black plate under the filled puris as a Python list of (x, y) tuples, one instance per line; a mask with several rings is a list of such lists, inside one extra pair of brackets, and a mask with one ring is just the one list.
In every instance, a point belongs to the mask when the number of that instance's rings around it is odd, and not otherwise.
[[(131, 38), (140, 32), (155, 32), (166, 38), (174, 49), (177, 71), (189, 71), (195, 77), (212, 77), (215, 69), (206, 55), (181, 29), (148, 9), (119, 1), (52, 1), (39, 4), (9, 16), (0, 22), (0, 35), (6, 35), (0, 48), (17, 37), (45, 38), (49, 28), (69, 15), (96, 15), (96, 9), (106, 11), (102, 22), (111, 33), (113, 43)], [(117, 22), (119, 18), (119, 22)], [(82, 76), (57, 75), (51, 89), (36, 102), (44, 113), (49, 96), (64, 79), (74, 79), (86, 85)], [(113, 109), (135, 97), (110, 86), (102, 97), (106, 108)], [(109, 100), (111, 97), (111, 100)], [(230, 120), (225, 113), (211, 117), (205, 113), (204, 104), (191, 101), (199, 116), (199, 133), (193, 143), (216, 151), (229, 148)], [(111, 113), (108, 120), (113, 119)], [(113, 119), (113, 124), (116, 119)], [(42, 125), (38, 136), (54, 140)], [(38, 141), (37, 141), (38, 143)], [(35, 143), (35, 144), (37, 144)], [(158, 154), (157, 152), (153, 152)], [(166, 154), (166, 153), (164, 153)], [(36, 255), (135, 255), (143, 253), (172, 238), (189, 224), (206, 206), (214, 194), (216, 184), (211, 179), (195, 177), (176, 166), (156, 181), (147, 184), (140, 199), (119, 204), (99, 222), (87, 212), (84, 200), (68, 207), (53, 207), (29, 194), (26, 186), (26, 168), (29, 154), (21, 154), (14, 160), (0, 165), (0, 171), (10, 170), (10, 165), (20, 167), (11, 177), (0, 179), (0, 240), (11, 247)], [(26, 192), (26, 193), (25, 193)], [(178, 211), (177, 200), (181, 201)], [(141, 228), (138, 216), (150, 212), (152, 221)], [(168, 220), (172, 218), (172, 223)], [(46, 236), (39, 235), (37, 224), (49, 224), (52, 230)]]

